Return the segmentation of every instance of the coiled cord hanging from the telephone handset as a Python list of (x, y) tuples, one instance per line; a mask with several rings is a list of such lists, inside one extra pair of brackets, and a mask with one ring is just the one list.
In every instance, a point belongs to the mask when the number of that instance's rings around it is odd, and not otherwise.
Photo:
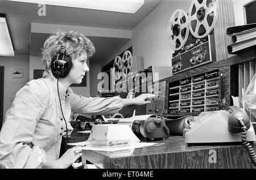
[(240, 122), (240, 125), (241, 125), (242, 144), (245, 146), (245, 148), (249, 154), (249, 157), (251, 159), (251, 162), (253, 162), (253, 165), (256, 167), (255, 151), (254, 151), (251, 143), (247, 142), (247, 127), (245, 126), (245, 123), (243, 123), (243, 121), (241, 119), (237, 118), (237, 120)]

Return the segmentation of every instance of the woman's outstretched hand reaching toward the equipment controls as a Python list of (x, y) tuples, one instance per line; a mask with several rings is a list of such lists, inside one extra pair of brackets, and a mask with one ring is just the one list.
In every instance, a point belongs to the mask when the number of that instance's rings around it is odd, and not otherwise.
[(155, 98), (156, 96), (154, 94), (150, 93), (143, 93), (135, 98), (124, 98), (123, 99), (123, 105), (129, 106), (129, 105), (144, 105), (144, 104), (150, 104), (151, 101), (149, 101), (150, 98)]

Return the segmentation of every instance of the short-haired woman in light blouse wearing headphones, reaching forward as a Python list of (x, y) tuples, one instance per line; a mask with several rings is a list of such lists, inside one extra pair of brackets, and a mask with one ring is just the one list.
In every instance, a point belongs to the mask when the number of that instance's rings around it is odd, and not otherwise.
[[(60, 50), (64, 50), (62, 53), (71, 65), (64, 76), (56, 64)], [(69, 86), (82, 82), (85, 72), (89, 71), (86, 61), (94, 52), (92, 42), (77, 32), (57, 32), (44, 42), (43, 78), (24, 85), (6, 114), (0, 132), (0, 168), (68, 168), (81, 157), (81, 151), (76, 153), (74, 147), (59, 158), (61, 136), (71, 112), (110, 114), (123, 106), (150, 103), (147, 101), (153, 97), (150, 94), (133, 99), (75, 95)]]

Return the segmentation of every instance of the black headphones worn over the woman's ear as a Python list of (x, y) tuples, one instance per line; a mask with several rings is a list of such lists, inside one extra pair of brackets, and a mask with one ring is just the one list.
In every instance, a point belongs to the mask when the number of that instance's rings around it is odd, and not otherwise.
[(52, 57), (51, 70), (56, 78), (65, 78), (71, 70), (71, 57), (66, 54), (66, 47), (60, 46), (59, 53)]

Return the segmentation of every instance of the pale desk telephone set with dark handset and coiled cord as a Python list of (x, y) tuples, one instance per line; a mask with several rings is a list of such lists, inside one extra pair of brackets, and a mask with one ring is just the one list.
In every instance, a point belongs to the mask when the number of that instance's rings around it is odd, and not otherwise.
[(184, 129), (184, 137), (188, 145), (241, 142), (256, 166), (256, 156), (251, 145), (256, 140), (254, 128), (246, 112), (237, 106), (228, 106), (226, 110), (215, 112), (201, 112)]

